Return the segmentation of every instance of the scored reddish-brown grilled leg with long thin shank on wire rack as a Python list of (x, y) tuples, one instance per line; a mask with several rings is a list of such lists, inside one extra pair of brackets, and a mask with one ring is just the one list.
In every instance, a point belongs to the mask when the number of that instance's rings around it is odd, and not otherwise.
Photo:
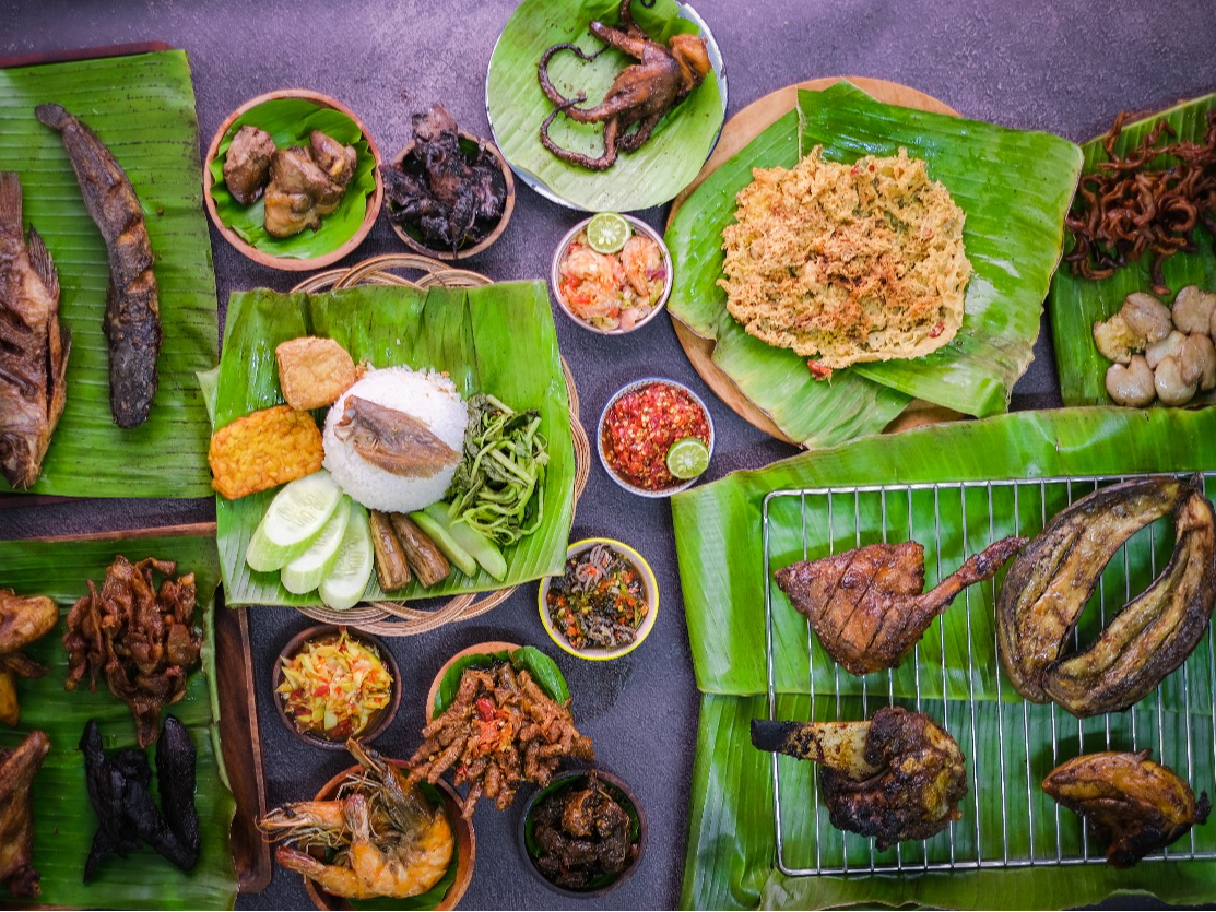
[(777, 585), (835, 662), (855, 675), (895, 668), (933, 619), (973, 582), (992, 579), (1025, 539), (1002, 539), (924, 590), (924, 548), (867, 545), (777, 570)]

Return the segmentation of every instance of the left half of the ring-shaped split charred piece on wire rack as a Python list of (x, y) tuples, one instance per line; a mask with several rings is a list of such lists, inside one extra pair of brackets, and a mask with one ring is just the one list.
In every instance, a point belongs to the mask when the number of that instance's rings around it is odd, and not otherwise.
[(1058, 513), (1009, 565), (996, 603), (997, 652), (1018, 693), (1051, 700), (1043, 675), (1060, 658), (1103, 568), (1187, 490), (1165, 477), (1103, 488)]

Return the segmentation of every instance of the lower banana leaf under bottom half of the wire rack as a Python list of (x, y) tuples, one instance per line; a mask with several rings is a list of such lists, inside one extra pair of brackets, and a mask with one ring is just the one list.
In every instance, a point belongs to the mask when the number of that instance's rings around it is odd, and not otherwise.
[[(832, 711), (835, 710), (833, 705)], [(846, 706), (850, 717), (857, 706)], [(777, 715), (781, 719), (809, 719), (805, 697), (779, 697)], [(821, 714), (822, 715), (822, 714)], [(987, 714), (990, 716), (991, 714)], [(992, 743), (991, 719), (983, 717), (978, 725), (979, 743)], [(822, 877), (786, 877), (775, 865), (776, 839), (773, 829), (772, 758), (751, 747), (749, 733), (753, 719), (767, 717), (765, 697), (702, 696), (700, 722), (697, 736), (697, 760), (693, 767), (689, 812), (688, 848), (685, 856), (683, 891), (681, 908), (833, 908), (846, 905), (916, 906), (936, 908), (1068, 908), (1099, 902), (1109, 896), (1155, 896), (1176, 903), (1200, 903), (1211, 900), (1211, 884), (1216, 878), (1216, 862), (1143, 862), (1130, 871), (1116, 871), (1107, 865), (1081, 865), (1068, 867), (1035, 867), (1007, 871), (955, 871), (930, 873), (906, 873), (902, 876), (850, 874)], [(1009, 782), (1018, 786), (1021, 769), (1025, 769), (1026, 750), (1020, 726), (1009, 732), (1004, 741), (1008, 753)], [(1181, 720), (1162, 722), (1165, 737), (1176, 739), (1172, 727)], [(1006, 726), (1010, 720), (1006, 717)], [(1035, 734), (1047, 734), (1036, 731)], [(1015, 736), (1015, 737), (1014, 737)], [(969, 733), (968, 733), (969, 737)], [(1019, 741), (1021, 739), (1021, 741)], [(1169, 742), (1167, 742), (1169, 743)], [(991, 748), (990, 748), (991, 749)], [(1065, 747), (1060, 760), (1071, 756), (1075, 748)], [(1198, 755), (1197, 755), (1198, 756)], [(1023, 766), (1015, 767), (1020, 761)], [(1211, 755), (1198, 756), (1197, 776), (1211, 781)], [(805, 814), (793, 814), (794, 820), (784, 822), (783, 840), (787, 861), (794, 865), (812, 861), (816, 841), (806, 838), (822, 834), (828, 860), (831, 848), (839, 854), (841, 838), (827, 821), (822, 801), (816, 807), (811, 783), (810, 764), (796, 760), (782, 764), (782, 805), (786, 814), (801, 805)], [(1048, 754), (1032, 756), (1032, 777), (1049, 770)], [(1198, 767), (1203, 766), (1200, 771)], [(1000, 795), (991, 783), (981, 783), (984, 790), (984, 817), (981, 818), (985, 857), (1001, 857), (1004, 833), (1000, 823)], [(1010, 857), (1019, 857), (1030, 844), (1030, 826), (1036, 831), (1036, 857), (1055, 855), (1055, 812), (1053, 803), (1034, 790), (1034, 810), (1028, 811), (1025, 795), (1021, 804), (1010, 803), (1007, 829)], [(956, 843), (966, 845), (968, 834), (974, 838), (974, 799), (962, 805), (963, 820), (955, 824)], [(1025, 816), (1023, 816), (1025, 815)], [(817, 827), (817, 831), (816, 831)], [(1200, 850), (1211, 851), (1216, 838), (1216, 823), (1195, 831)], [(1060, 811), (1060, 839), (1064, 851), (1079, 850), (1080, 822), (1069, 811)], [(868, 866), (868, 840), (849, 837), (849, 857), (852, 863)], [(792, 848), (792, 843), (796, 848)], [(930, 840), (929, 857), (947, 857), (947, 837)], [(1175, 845), (1189, 850), (1184, 838)], [(1099, 846), (1091, 844), (1091, 856)], [(905, 843), (900, 850), (905, 865), (923, 862), (921, 843)], [(890, 862), (895, 851), (878, 854), (879, 862)], [(1026, 856), (1029, 857), (1029, 856)], [(839, 858), (838, 858), (839, 860)]]

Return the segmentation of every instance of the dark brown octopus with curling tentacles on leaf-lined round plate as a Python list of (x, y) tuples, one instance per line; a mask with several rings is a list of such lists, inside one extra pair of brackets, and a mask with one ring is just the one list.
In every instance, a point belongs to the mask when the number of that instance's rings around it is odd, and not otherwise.
[[(537, 74), (540, 86), (557, 108), (545, 118), (540, 128), (540, 141), (545, 148), (564, 162), (603, 171), (617, 161), (618, 152), (636, 152), (658, 125), (659, 120), (702, 84), (709, 73), (709, 54), (705, 39), (697, 35), (672, 35), (668, 44), (653, 40), (634, 22), (630, 5), (621, 0), (620, 24), (617, 28), (602, 22), (592, 22), (591, 34), (604, 43), (595, 54), (586, 54), (570, 43), (556, 44), (540, 58)], [(654, 0), (643, 5), (653, 6)], [(613, 80), (603, 101), (591, 108), (578, 105), (587, 100), (579, 92), (567, 98), (554, 86), (548, 75), (548, 62), (561, 51), (572, 51), (584, 61), (593, 61), (609, 47), (640, 61), (626, 67)], [(548, 128), (558, 114), (575, 123), (602, 123), (604, 126), (604, 151), (598, 158), (574, 152), (557, 145), (548, 135)]]

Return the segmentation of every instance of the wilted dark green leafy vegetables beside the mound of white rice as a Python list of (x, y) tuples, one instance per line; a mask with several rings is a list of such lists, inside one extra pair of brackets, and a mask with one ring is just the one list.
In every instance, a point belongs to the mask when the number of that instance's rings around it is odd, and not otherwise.
[(540, 412), (517, 412), (492, 395), (468, 401), (465, 460), (447, 489), (450, 514), (499, 545), (513, 545), (545, 518), (548, 441)]

